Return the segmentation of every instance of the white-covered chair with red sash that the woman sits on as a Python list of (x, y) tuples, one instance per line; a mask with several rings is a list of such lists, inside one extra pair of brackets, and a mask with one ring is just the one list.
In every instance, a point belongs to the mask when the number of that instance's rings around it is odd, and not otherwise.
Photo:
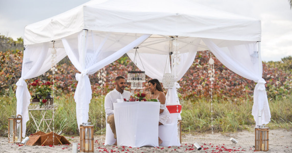
[[(181, 109), (181, 105), (178, 106), (180, 106)], [(178, 113), (173, 113), (168, 106), (166, 107), (170, 112), (171, 123), (159, 126), (158, 136), (162, 140), (160, 146), (180, 146), (180, 140), (178, 137), (178, 116), (180, 115), (180, 109)]]

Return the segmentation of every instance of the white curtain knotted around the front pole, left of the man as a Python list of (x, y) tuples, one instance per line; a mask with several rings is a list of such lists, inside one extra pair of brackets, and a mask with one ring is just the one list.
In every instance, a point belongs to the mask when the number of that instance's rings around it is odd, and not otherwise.
[(94, 74), (116, 61), (127, 51), (150, 37), (150, 34), (140, 35), (136, 38), (135, 36), (125, 36), (117, 33), (92, 31), (86, 32), (86, 37), (83, 36), (84, 34), (85, 32), (81, 31), (76, 35), (62, 38), (70, 61), (81, 72), (75, 75), (78, 81), (74, 94), (78, 127), (81, 123), (88, 122), (88, 109), (92, 98), (88, 75)]

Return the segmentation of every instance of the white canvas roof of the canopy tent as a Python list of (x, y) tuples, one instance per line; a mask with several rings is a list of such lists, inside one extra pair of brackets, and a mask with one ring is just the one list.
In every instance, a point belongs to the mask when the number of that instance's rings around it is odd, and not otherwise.
[(24, 44), (48, 42), (82, 29), (260, 41), (260, 20), (219, 11), (191, 0), (92, 0), (27, 25)]

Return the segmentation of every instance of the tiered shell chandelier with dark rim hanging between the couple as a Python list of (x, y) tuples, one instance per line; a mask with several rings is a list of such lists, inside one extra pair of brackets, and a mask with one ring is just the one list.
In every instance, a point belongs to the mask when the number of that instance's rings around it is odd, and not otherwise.
[[(134, 48), (136, 49), (136, 52), (135, 52), (135, 56), (134, 56), (134, 60), (133, 60), (133, 64), (132, 64), (132, 69), (131, 71), (128, 71), (128, 76), (127, 76), (127, 82), (131, 82), (131, 89), (143, 89), (143, 82), (146, 82), (145, 80), (145, 71), (134, 71), (134, 63), (135, 65), (137, 65), (137, 55), (141, 61), (141, 58), (140, 58), (140, 55), (137, 51), (138, 47), (137, 48)], [(142, 63), (142, 61), (141, 61)], [(143, 66), (143, 63), (142, 63), (142, 66)], [(143, 66), (144, 68), (144, 66)], [(145, 68), (144, 68), (145, 70)]]

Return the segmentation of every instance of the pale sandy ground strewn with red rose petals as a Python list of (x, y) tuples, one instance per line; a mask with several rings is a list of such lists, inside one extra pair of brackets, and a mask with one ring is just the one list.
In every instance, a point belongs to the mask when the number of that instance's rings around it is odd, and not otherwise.
[[(229, 140), (230, 137), (235, 138), (238, 143), (232, 145)], [(79, 143), (79, 137), (66, 137), (71, 143)], [(71, 145), (56, 145), (55, 147), (49, 146), (19, 146), (18, 144), (7, 143), (7, 137), (0, 137), (0, 153), (1, 152), (25, 152), (25, 153), (38, 153), (38, 152), (63, 152), (71, 153)], [(181, 146), (171, 147), (124, 147), (124, 146), (104, 146), (105, 135), (98, 135), (94, 137), (94, 152), (195, 152), (196, 148), (193, 143), (197, 142), (202, 146), (198, 153), (203, 152), (254, 152), (255, 137), (254, 130), (243, 131), (237, 133), (214, 133), (212, 134), (183, 134)], [(232, 151), (231, 151), (232, 150)], [(269, 151), (268, 152), (292, 152), (292, 131), (279, 129), (270, 130), (269, 132)]]

